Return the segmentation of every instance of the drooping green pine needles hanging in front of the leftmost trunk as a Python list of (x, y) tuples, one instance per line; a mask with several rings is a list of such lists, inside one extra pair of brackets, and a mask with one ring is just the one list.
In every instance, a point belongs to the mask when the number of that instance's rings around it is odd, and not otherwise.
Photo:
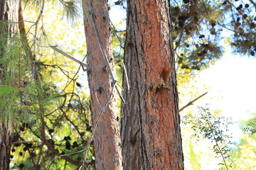
[(23, 79), (21, 74), (28, 73), (29, 62), (27, 62), (25, 55), (23, 55), (21, 39), (18, 35), (11, 37), (11, 35), (6, 36), (3, 33), (0, 35), (0, 41), (0, 112), (3, 113), (0, 115), (0, 120), (16, 126), (17, 122), (24, 118), (21, 94), (26, 89), (21, 86), (23, 83), (21, 82), (21, 79)]

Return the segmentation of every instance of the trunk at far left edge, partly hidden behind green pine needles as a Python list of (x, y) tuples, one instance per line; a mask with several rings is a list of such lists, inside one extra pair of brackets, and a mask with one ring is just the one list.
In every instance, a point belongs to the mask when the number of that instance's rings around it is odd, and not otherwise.
[[(0, 0), (0, 58), (4, 52), (4, 46), (8, 43), (8, 38), (16, 34), (15, 24), (6, 24), (6, 21), (18, 21), (18, 2), (11, 0)], [(0, 64), (0, 84), (4, 84), (4, 72), (8, 66)], [(7, 84), (9, 85), (9, 84)], [(0, 99), (1, 100), (1, 99)], [(2, 114), (2, 113), (0, 113)], [(11, 121), (0, 120), (0, 170), (9, 169), (11, 152)]]

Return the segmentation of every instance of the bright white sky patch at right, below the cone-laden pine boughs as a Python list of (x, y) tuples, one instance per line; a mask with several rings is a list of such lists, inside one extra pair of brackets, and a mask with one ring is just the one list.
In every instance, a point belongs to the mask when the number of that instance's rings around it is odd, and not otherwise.
[(204, 101), (235, 121), (256, 113), (256, 59), (227, 52), (221, 60), (201, 72), (199, 80), (210, 87)]

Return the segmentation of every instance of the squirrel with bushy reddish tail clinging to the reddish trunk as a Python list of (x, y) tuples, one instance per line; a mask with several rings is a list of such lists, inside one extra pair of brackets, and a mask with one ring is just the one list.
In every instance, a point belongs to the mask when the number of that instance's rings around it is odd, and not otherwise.
[(164, 67), (162, 73), (161, 73), (161, 78), (157, 79), (156, 82), (154, 83), (154, 86), (152, 87), (151, 91), (156, 92), (156, 89), (161, 89), (161, 88), (166, 88), (166, 89), (171, 89), (170, 86), (167, 86), (164, 81), (169, 79), (169, 76), (173, 69), (170, 67)]

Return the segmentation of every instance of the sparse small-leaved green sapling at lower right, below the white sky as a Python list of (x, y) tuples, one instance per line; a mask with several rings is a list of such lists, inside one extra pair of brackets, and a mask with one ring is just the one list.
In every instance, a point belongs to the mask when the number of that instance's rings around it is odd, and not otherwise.
[(216, 157), (219, 157), (224, 162), (221, 162), (220, 165), (224, 164), (228, 169), (229, 165), (226, 164), (226, 159), (229, 157), (230, 134), (227, 134), (227, 132), (228, 125), (232, 124), (232, 122), (225, 117), (213, 115), (210, 113), (209, 108), (203, 107), (199, 108), (199, 113), (196, 116), (183, 116), (181, 122), (185, 125), (191, 124), (194, 137), (199, 139), (203, 136), (213, 142), (213, 152), (215, 152)]

